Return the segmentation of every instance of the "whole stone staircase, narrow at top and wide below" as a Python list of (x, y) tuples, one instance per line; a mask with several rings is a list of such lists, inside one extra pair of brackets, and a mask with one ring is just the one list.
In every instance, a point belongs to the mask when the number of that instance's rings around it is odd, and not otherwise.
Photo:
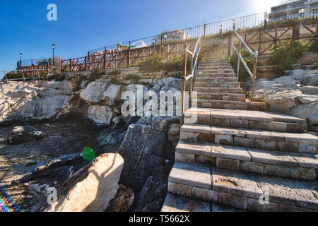
[(185, 114), (162, 211), (317, 211), (318, 137), (306, 121), (246, 102), (227, 61), (201, 62), (194, 84), (199, 106)]

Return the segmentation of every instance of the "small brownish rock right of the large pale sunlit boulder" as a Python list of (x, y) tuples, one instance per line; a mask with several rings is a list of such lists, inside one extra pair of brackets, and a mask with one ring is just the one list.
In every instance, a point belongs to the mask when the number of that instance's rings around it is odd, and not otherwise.
[(127, 212), (134, 203), (135, 194), (131, 189), (119, 184), (119, 189), (116, 196), (110, 201), (106, 212)]

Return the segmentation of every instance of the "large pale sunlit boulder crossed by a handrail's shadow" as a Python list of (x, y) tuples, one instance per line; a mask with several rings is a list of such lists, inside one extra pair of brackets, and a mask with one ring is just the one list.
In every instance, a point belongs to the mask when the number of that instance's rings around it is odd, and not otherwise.
[(119, 154), (104, 154), (78, 170), (61, 187), (60, 198), (47, 212), (102, 212), (118, 190), (124, 160)]

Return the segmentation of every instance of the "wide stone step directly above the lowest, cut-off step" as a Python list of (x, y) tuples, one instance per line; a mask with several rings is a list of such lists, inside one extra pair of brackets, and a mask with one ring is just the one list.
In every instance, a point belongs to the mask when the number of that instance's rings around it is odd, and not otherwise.
[[(318, 181), (273, 177), (175, 162), (168, 191), (252, 211), (317, 211)], [(260, 199), (268, 196), (269, 204)]]

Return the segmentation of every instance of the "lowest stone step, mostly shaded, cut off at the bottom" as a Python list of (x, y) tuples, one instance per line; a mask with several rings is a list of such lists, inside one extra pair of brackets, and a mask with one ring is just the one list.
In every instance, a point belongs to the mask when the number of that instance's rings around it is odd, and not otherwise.
[(218, 203), (199, 201), (194, 198), (178, 196), (168, 192), (161, 212), (245, 212), (245, 210), (220, 205)]

